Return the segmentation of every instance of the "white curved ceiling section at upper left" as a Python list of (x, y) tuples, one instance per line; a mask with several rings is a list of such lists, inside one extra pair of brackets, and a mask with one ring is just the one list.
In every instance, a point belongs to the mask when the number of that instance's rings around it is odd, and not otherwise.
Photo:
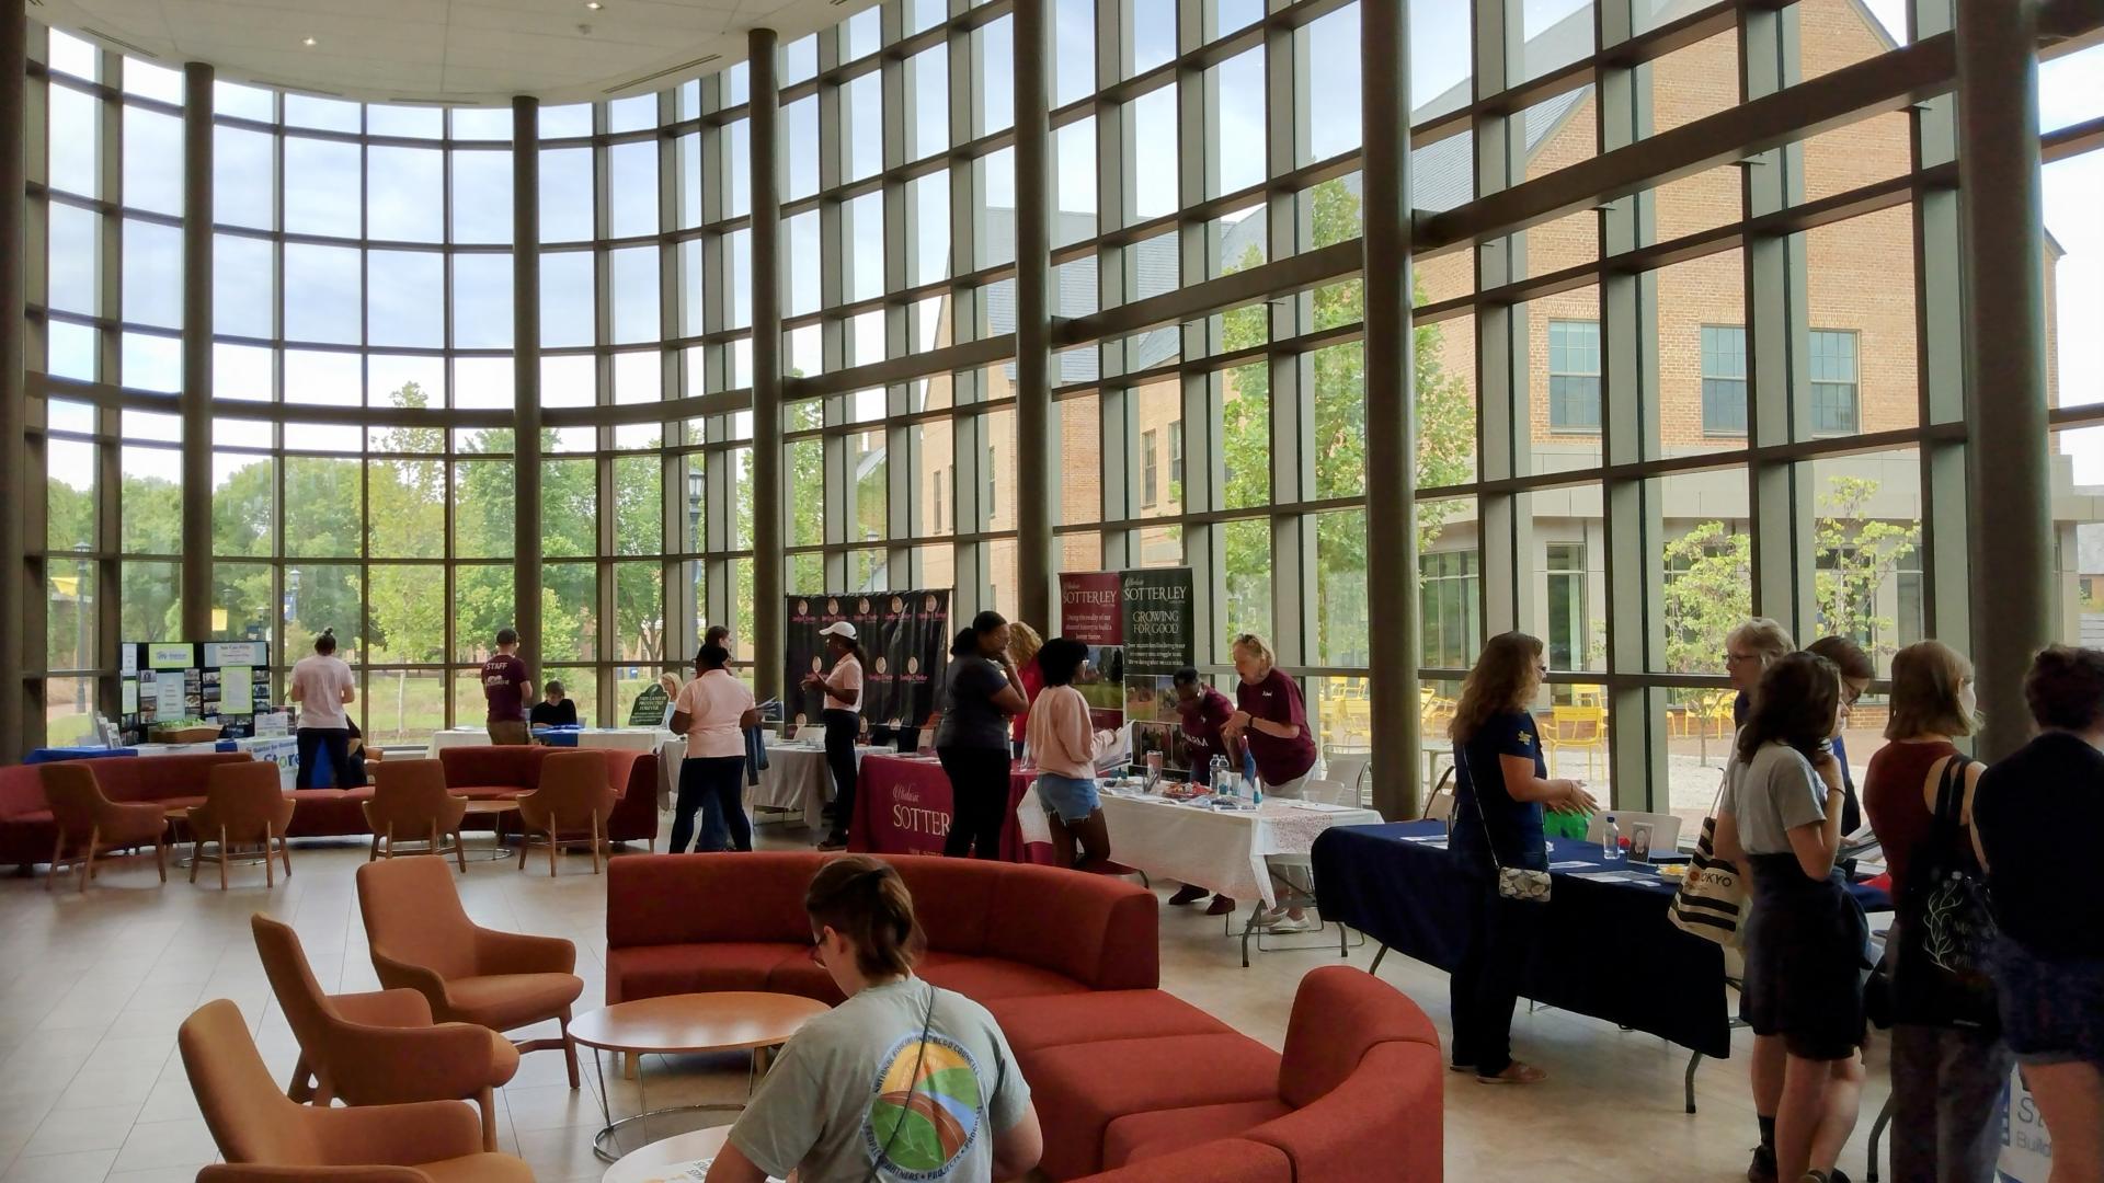
[[(229, 82), (366, 101), (574, 103), (663, 91), (787, 44), (867, 0), (32, 0), (40, 21)], [(313, 38), (309, 48), (305, 38)], [(709, 61), (713, 55), (713, 61)], [(661, 72), (667, 72), (659, 76)]]

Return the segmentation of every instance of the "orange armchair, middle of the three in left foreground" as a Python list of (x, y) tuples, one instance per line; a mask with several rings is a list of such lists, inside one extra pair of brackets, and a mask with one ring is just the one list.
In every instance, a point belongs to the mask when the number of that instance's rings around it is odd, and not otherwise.
[[(398, 1105), (465, 1101), (482, 1109), (482, 1149), (497, 1149), (497, 1088), (520, 1069), (509, 1040), (473, 1023), (431, 1025), (414, 989), (322, 994), (299, 935), (261, 911), (248, 920), (278, 1006), (299, 1038), (292, 1101)], [(313, 1086), (307, 1086), (309, 1074)]]

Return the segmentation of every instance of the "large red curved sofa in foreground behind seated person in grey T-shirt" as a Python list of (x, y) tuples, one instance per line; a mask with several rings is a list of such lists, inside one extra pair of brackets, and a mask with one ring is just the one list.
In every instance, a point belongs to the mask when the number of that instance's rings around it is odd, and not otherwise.
[[(810, 960), (804, 916), (823, 861), (608, 863), (606, 1000), (770, 989), (839, 1002)], [(1002, 1023), (1046, 1126), (1050, 1179), (1441, 1177), (1439, 1036), (1380, 979), (1311, 973), (1281, 1057), (1157, 989), (1159, 903), (1136, 884), (1027, 863), (888, 861), (928, 933), (922, 977)]]

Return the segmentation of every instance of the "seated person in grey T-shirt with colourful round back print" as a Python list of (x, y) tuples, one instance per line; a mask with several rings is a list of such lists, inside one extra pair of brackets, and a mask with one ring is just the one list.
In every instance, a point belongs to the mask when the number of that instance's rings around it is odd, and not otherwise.
[(1020, 1179), (1044, 1154), (1031, 1088), (985, 1006), (913, 977), (926, 941), (890, 863), (825, 863), (804, 893), (812, 960), (848, 998), (804, 1023), (707, 1183)]

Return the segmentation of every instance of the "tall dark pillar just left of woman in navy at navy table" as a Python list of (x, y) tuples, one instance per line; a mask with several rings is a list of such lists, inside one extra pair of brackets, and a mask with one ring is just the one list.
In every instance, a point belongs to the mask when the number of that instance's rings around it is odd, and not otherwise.
[(1374, 808), (1418, 815), (1418, 432), (1410, 330), (1410, 61), (1405, 0), (1359, 6), (1365, 128), (1365, 596)]

